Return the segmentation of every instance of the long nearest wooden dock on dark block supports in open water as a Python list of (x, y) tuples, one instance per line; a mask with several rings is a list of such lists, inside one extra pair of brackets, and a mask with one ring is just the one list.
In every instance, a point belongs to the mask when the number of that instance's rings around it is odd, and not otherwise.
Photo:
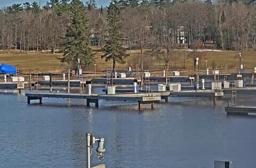
[(99, 107), (99, 100), (118, 100), (118, 101), (138, 101), (139, 109), (142, 104), (151, 104), (154, 108), (154, 103), (161, 100), (161, 94), (74, 94), (74, 93), (26, 93), (27, 101), (39, 100), (42, 103), (43, 98), (62, 98), (62, 99), (86, 99), (86, 105), (95, 103), (95, 107)]

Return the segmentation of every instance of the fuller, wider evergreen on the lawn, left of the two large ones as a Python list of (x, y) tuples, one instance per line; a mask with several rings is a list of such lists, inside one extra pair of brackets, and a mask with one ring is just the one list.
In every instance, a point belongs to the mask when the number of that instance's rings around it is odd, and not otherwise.
[(89, 19), (84, 4), (79, 0), (70, 3), (71, 22), (66, 33), (65, 53), (62, 63), (69, 63), (71, 68), (77, 69), (77, 59), (82, 66), (92, 66), (94, 58), (89, 46)]

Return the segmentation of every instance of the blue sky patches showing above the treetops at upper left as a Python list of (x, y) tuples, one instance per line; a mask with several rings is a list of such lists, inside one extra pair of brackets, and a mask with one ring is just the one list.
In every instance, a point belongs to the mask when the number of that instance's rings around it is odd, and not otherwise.
[[(1, 7), (4, 7), (4, 6), (10, 6), (12, 4), (23, 4), (25, 2), (39, 2), (41, 3), (41, 6), (44, 6), (46, 4), (47, 1), (50, 1), (50, 0), (0, 0), (0, 6)], [(86, 2), (86, 0), (82, 0), (83, 2)], [(110, 0), (96, 0), (97, 2), (97, 6), (100, 7), (101, 5), (103, 7), (106, 7), (108, 6)]]

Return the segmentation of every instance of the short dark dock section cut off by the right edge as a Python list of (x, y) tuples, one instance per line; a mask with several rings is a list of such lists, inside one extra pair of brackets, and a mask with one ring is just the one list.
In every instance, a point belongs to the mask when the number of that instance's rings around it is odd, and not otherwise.
[(228, 106), (225, 107), (227, 115), (248, 115), (248, 113), (256, 113), (256, 107), (253, 106)]

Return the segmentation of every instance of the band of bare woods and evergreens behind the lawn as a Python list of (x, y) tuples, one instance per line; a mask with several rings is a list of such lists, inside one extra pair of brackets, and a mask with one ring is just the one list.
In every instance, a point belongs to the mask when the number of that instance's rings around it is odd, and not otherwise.
[[(124, 63), (125, 49), (163, 60), (177, 57), (177, 49), (247, 50), (256, 47), (254, 1), (113, 0), (97, 8), (94, 0), (50, 0), (13, 4), (0, 10), (0, 49), (40, 53), (63, 52), (60, 60), (93, 65), (91, 38), (102, 58)], [(184, 44), (182, 44), (184, 43)], [(176, 56), (175, 56), (176, 55)], [(193, 56), (194, 59), (194, 56)]]

